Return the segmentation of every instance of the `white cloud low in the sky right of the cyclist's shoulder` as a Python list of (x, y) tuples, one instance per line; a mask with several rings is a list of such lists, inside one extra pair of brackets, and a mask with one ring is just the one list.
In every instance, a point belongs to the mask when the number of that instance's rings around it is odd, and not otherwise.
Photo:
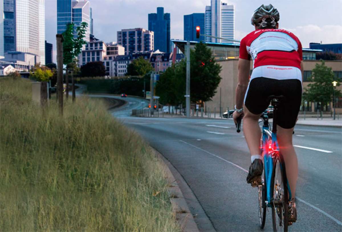
[(310, 42), (323, 44), (337, 44), (342, 42), (342, 25), (317, 26), (313, 24), (288, 28), (302, 43), (303, 48), (308, 48)]

